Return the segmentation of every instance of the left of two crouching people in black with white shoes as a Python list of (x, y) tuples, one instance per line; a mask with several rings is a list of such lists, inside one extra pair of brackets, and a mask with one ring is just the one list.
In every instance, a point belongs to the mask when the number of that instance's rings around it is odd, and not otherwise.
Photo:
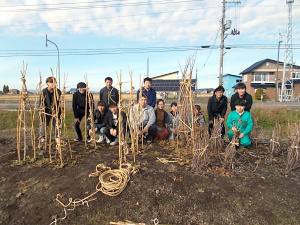
[[(105, 128), (105, 116), (108, 112), (108, 109), (106, 108), (106, 104), (103, 100), (100, 100), (97, 103), (97, 109), (94, 111), (93, 114), (93, 121), (95, 124), (95, 134), (99, 135), (98, 143), (102, 143), (105, 140), (104, 130)], [(91, 129), (90, 121), (88, 121), (88, 139), (93, 135), (93, 130)]]

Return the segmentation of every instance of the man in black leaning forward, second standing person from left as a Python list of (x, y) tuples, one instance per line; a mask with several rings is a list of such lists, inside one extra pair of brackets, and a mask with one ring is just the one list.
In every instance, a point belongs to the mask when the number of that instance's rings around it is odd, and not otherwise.
[[(74, 141), (82, 141), (82, 133), (80, 130), (80, 122), (82, 118), (85, 116), (85, 119), (88, 119), (89, 111), (94, 109), (94, 101), (92, 101), (92, 105), (89, 104), (89, 100), (86, 99), (88, 96), (86, 94), (86, 84), (80, 82), (77, 84), (77, 89), (73, 94), (72, 100), (72, 108), (74, 113), (74, 127), (77, 133), (77, 138)], [(92, 95), (92, 94), (91, 94)], [(93, 95), (92, 95), (93, 97)], [(86, 102), (87, 101), (87, 102)], [(85, 112), (87, 113), (85, 115)]]

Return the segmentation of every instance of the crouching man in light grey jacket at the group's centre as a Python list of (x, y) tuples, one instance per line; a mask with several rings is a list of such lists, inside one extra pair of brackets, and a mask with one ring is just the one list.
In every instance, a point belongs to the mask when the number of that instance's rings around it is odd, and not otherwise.
[(147, 105), (147, 100), (147, 96), (143, 94), (138, 104), (130, 110), (129, 118), (131, 128), (134, 130), (136, 124), (137, 129), (139, 129), (137, 130), (138, 136), (147, 134), (145, 141), (150, 144), (155, 136), (156, 126), (154, 109)]

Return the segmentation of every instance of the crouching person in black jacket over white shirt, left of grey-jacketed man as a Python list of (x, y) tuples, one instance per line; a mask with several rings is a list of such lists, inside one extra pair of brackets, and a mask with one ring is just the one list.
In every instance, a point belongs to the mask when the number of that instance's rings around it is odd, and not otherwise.
[[(122, 116), (122, 132), (123, 135), (125, 136), (126, 133), (126, 114), (121, 111), (121, 116)], [(104, 134), (106, 136), (106, 143), (110, 145), (116, 145), (118, 143), (118, 128), (119, 124), (119, 110), (118, 106), (114, 103), (111, 103), (109, 105), (109, 111), (106, 114), (105, 117), (105, 129), (104, 129)]]

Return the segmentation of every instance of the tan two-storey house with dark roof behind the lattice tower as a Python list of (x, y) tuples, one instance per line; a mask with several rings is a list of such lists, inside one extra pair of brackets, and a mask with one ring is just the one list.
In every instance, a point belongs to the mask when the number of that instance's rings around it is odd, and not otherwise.
[[(281, 94), (281, 82), (283, 77), (284, 63), (278, 62), (278, 99)], [(258, 61), (247, 69), (243, 70), (240, 75), (242, 82), (247, 87), (247, 92), (254, 97), (258, 88), (264, 89), (268, 98), (275, 100), (275, 87), (276, 87), (276, 74), (277, 74), (277, 61), (272, 59), (264, 59)], [(289, 81), (287, 84), (293, 85), (293, 98), (299, 99), (300, 96), (300, 66), (293, 65), (292, 74), (287, 74)]]

